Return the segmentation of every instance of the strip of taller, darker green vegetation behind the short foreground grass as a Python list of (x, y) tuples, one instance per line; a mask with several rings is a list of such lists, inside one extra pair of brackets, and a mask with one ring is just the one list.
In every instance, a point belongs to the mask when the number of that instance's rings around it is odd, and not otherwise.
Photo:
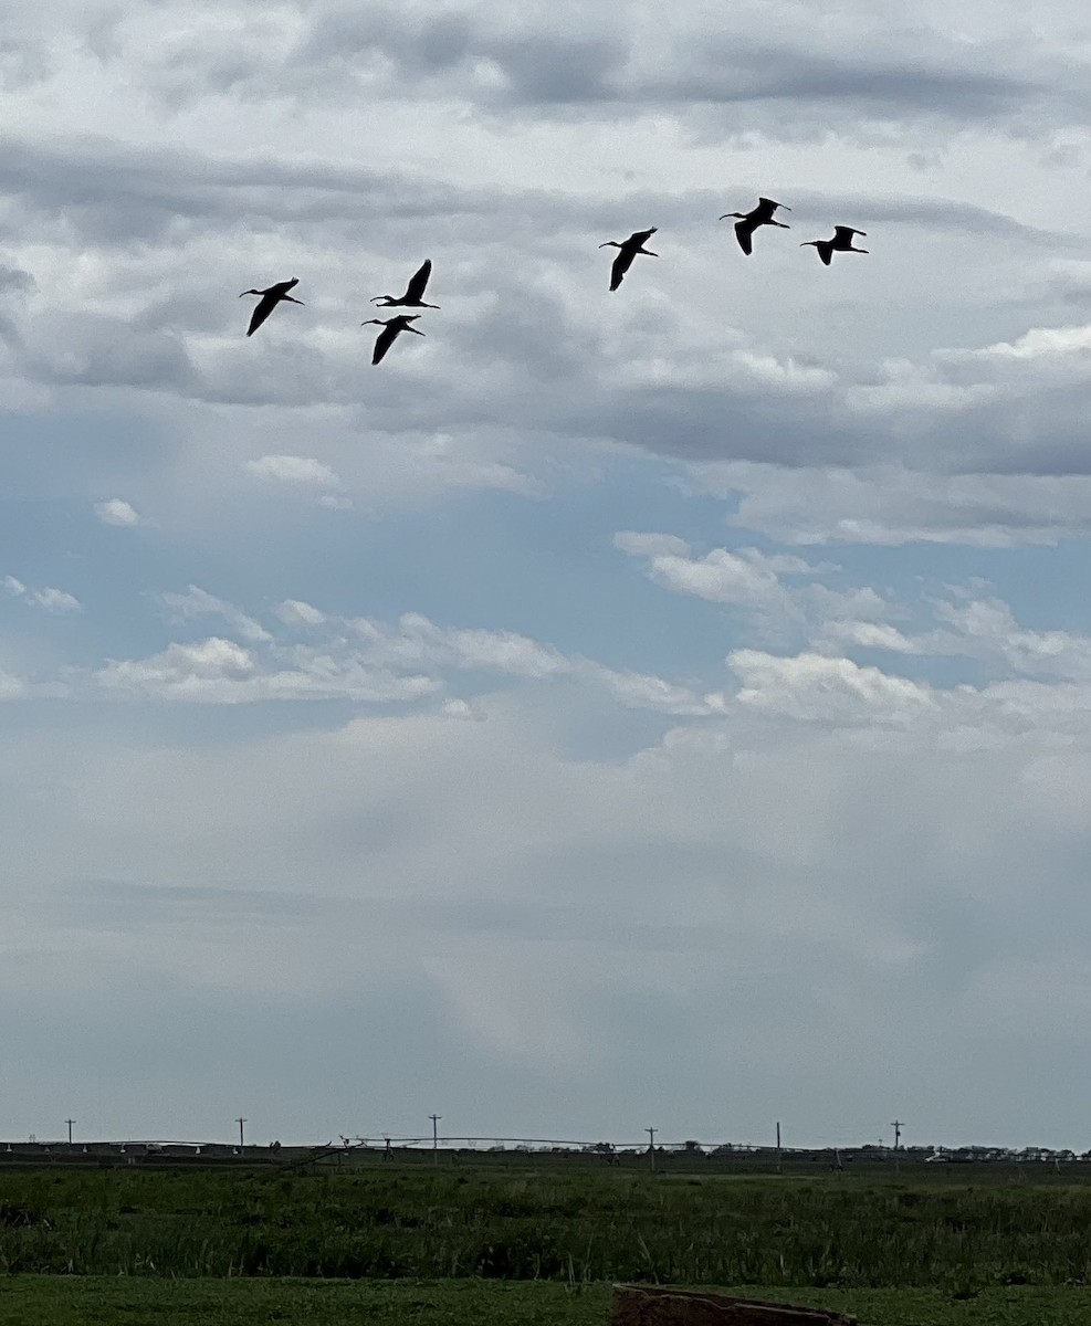
[(0, 1273), (1091, 1284), (1091, 1191), (1056, 1184), (8, 1171), (0, 1201)]

